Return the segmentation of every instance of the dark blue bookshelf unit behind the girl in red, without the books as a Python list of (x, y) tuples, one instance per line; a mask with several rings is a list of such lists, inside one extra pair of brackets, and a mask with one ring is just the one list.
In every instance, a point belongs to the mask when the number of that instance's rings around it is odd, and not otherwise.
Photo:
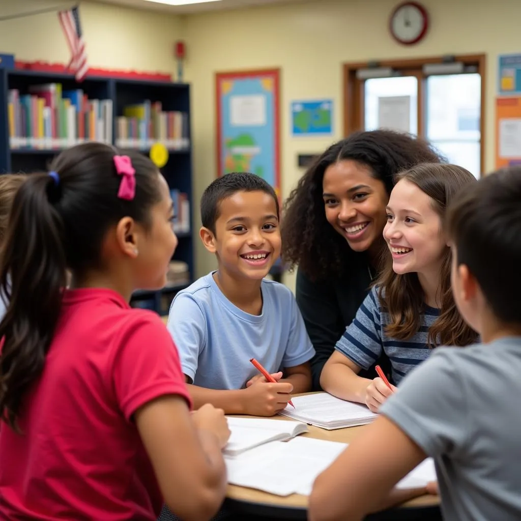
[[(0, 173), (45, 171), (59, 150), (36, 150), (31, 148), (9, 148), (9, 126), (7, 98), (9, 89), (18, 89), (27, 94), (31, 85), (61, 83), (63, 90), (82, 89), (89, 98), (113, 101), (113, 136), (116, 139), (116, 117), (123, 115), (126, 105), (142, 103), (144, 100), (162, 103), (163, 110), (179, 110), (189, 115), (190, 127), (190, 85), (187, 83), (167, 83), (121, 78), (89, 77), (83, 82), (75, 81), (73, 75), (0, 68)], [(189, 140), (191, 133), (189, 128)], [(148, 154), (148, 150), (141, 151)], [(173, 259), (188, 264), (190, 277), (194, 277), (194, 233), (193, 233), (193, 188), (192, 150), (172, 150), (168, 163), (161, 169), (171, 189), (188, 194), (190, 201), (190, 232), (178, 234), (179, 245)], [(177, 291), (187, 284), (164, 288), (160, 291), (137, 291), (131, 304), (154, 309), (159, 314), (168, 313), (169, 302)], [(165, 298), (166, 297), (166, 298)]]

